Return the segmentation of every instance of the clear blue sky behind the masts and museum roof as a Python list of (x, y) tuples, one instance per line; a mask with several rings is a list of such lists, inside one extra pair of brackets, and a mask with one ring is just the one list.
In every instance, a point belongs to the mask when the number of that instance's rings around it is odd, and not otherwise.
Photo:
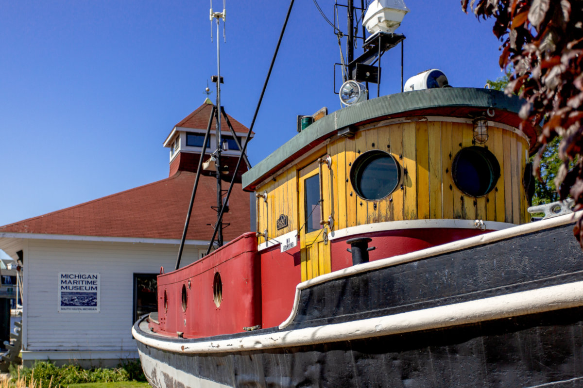
[[(333, 2), (319, 4), (332, 19)], [(288, 5), (227, 0), (222, 105), (247, 126)], [(457, 0), (406, 5), (397, 31), (406, 35), (405, 80), (434, 67), (452, 86), (501, 75), (491, 20), (465, 15)], [(0, 225), (168, 176), (162, 143), (216, 74), (208, 15), (208, 1), (0, 0)], [(382, 59), (381, 95), (399, 92), (393, 51)], [(312, 0), (297, 0), (255, 123), (252, 164), (294, 136), (296, 115), (340, 108), (335, 62), (332, 27)]]

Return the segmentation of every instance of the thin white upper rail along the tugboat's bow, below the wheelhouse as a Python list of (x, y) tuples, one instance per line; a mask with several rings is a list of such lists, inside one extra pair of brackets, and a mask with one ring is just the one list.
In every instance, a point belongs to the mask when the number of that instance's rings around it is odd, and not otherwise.
[(356, 275), (357, 273), (361, 272), (368, 272), (370, 270), (387, 268), (390, 266), (417, 261), (420, 259), (425, 259), (436, 255), (460, 251), (471, 247), (475, 247), (477, 245), (495, 243), (496, 241), (510, 239), (511, 237), (516, 237), (521, 234), (528, 234), (538, 232), (539, 230), (543, 229), (550, 229), (552, 227), (566, 225), (567, 223), (573, 222), (575, 217), (580, 217), (581, 215), (583, 215), (583, 211), (574, 214), (566, 214), (564, 216), (550, 218), (544, 221), (531, 222), (524, 225), (509, 227), (503, 230), (496, 230), (494, 232), (480, 234), (479, 236), (469, 237), (468, 239), (457, 240), (452, 241), (451, 243), (437, 245), (436, 247), (426, 248), (423, 250), (410, 252), (403, 255), (389, 257), (386, 259), (375, 260), (364, 264), (353, 265), (348, 268), (340, 269), (335, 272), (326, 273), (325, 275), (314, 277), (314, 279), (306, 280), (305, 282), (302, 282), (296, 286), (296, 296), (294, 299), (293, 307), (291, 308), (290, 316), (287, 317), (287, 319), (283, 321), (281, 325), (279, 325), (279, 328), (280, 329), (286, 328), (296, 317), (297, 309), (300, 303), (301, 290), (307, 289), (308, 287), (311, 286), (315, 286), (315, 284), (329, 282), (330, 280), (339, 279), (340, 277)]

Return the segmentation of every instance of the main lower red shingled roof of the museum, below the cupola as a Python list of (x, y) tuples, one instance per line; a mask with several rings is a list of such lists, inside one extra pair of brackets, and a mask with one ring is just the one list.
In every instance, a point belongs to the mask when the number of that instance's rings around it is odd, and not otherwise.
[[(175, 175), (85, 202), (35, 218), (0, 226), (0, 232), (46, 233), (74, 236), (142, 237), (180, 239), (196, 174), (180, 171)], [(216, 212), (216, 179), (201, 176), (188, 228), (188, 240), (210, 240)], [(223, 222), (224, 240), (233, 240), (249, 230), (249, 193), (241, 184), (233, 187), (230, 210)]]

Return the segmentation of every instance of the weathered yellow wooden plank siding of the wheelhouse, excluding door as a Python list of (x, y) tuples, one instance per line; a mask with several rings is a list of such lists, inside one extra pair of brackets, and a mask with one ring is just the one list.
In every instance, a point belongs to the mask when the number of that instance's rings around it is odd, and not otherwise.
[[(462, 148), (476, 146), (489, 149), (500, 163), (494, 190), (479, 198), (462, 193), (451, 175), (456, 154)], [(529, 219), (522, 187), (528, 144), (510, 130), (490, 126), (486, 143), (473, 144), (471, 123), (420, 120), (360, 130), (352, 137), (336, 138), (320, 147), (322, 152), (317, 154), (326, 152), (332, 158), (331, 169), (323, 165), (322, 190), (325, 217), (333, 216), (336, 230), (412, 219), (482, 219), (515, 224)], [(377, 201), (360, 198), (350, 181), (355, 159), (371, 149), (388, 152), (401, 168), (396, 190)], [(269, 200), (267, 206), (259, 200), (259, 230), (266, 225), (270, 237), (277, 237), (298, 229), (298, 201), (303, 196), (297, 193), (296, 166), (258, 188), (259, 193), (264, 190)], [(275, 220), (282, 213), (287, 214), (289, 225), (278, 231)], [(261, 219), (265, 216), (270, 218), (267, 222)]]

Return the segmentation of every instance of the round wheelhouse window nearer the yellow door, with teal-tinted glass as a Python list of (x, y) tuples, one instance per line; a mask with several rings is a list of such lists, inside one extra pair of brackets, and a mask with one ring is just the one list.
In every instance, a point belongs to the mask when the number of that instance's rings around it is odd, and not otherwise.
[(365, 200), (381, 200), (397, 188), (401, 167), (390, 154), (378, 149), (364, 152), (350, 168), (354, 191)]

